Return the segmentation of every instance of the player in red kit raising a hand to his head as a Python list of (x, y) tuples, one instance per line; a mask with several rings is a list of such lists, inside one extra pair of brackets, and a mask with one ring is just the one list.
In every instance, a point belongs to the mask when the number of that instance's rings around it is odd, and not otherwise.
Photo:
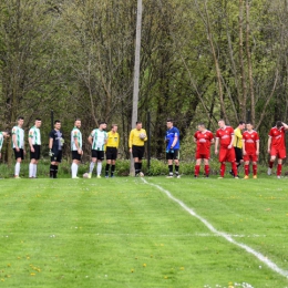
[(270, 162), (268, 167), (268, 175), (271, 175), (272, 164), (278, 156), (277, 178), (281, 177), (282, 160), (286, 158), (286, 143), (285, 131), (288, 130), (288, 125), (281, 121), (276, 122), (276, 126), (269, 132), (268, 138), (268, 153), (270, 154)]

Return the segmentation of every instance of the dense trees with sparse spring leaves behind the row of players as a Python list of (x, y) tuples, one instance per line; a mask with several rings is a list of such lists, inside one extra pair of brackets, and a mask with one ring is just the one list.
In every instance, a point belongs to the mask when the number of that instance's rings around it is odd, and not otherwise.
[[(75, 117), (86, 136), (113, 122), (127, 157), (136, 8), (136, 0), (2, 0), (0, 130), (18, 115), (28, 130), (41, 116), (48, 135), (51, 110), (66, 133)], [(163, 157), (172, 117), (185, 145), (199, 122), (216, 131), (219, 119), (250, 120), (266, 158), (269, 127), (287, 121), (287, 0), (143, 0), (138, 119), (145, 126), (151, 112), (154, 157)]]

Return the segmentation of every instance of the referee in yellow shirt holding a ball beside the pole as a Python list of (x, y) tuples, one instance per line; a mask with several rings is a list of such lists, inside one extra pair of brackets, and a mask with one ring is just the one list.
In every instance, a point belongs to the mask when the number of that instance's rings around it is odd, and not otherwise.
[(145, 142), (147, 141), (147, 133), (144, 128), (142, 128), (142, 122), (136, 122), (136, 127), (130, 132), (128, 137), (128, 148), (130, 153), (132, 153), (132, 157), (134, 160), (135, 167), (135, 176), (143, 177), (144, 174), (142, 172), (142, 158), (145, 152)]

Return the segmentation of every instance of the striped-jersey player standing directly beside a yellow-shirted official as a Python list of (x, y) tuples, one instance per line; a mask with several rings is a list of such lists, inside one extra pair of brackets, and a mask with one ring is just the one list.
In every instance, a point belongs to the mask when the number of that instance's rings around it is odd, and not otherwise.
[(107, 142), (107, 133), (105, 132), (107, 124), (105, 122), (101, 122), (99, 128), (94, 128), (90, 136), (88, 137), (88, 142), (92, 146), (92, 160), (90, 163), (90, 169), (88, 177), (92, 177), (92, 172), (97, 162), (97, 178), (101, 178), (102, 171), (102, 161), (104, 160), (104, 146)]

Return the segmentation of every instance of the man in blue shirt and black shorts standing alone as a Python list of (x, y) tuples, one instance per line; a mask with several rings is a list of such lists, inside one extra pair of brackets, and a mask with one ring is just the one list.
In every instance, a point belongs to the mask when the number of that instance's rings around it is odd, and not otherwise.
[(179, 131), (173, 126), (173, 121), (168, 119), (166, 121), (166, 160), (168, 161), (168, 176), (167, 178), (173, 178), (173, 162), (175, 165), (175, 175), (179, 178)]

